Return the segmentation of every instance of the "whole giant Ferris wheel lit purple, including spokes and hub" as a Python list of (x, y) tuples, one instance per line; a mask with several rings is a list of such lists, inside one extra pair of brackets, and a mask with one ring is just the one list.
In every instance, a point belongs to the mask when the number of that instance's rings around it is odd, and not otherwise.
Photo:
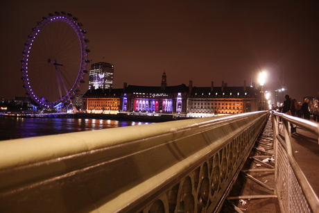
[(21, 79), (26, 94), (44, 108), (71, 103), (85, 83), (89, 40), (82, 26), (70, 13), (55, 12), (37, 22), (28, 35)]

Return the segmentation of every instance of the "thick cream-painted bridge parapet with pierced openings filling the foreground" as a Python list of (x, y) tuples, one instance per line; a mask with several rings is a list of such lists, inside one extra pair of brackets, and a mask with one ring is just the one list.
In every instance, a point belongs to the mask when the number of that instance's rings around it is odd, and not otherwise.
[(218, 212), (268, 112), (0, 142), (0, 212)]

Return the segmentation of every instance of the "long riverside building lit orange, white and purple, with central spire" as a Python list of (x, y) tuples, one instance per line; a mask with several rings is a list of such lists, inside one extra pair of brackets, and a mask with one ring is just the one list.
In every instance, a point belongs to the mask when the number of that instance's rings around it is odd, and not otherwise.
[(118, 114), (147, 112), (172, 114), (175, 117), (211, 117), (214, 114), (239, 114), (259, 109), (259, 90), (255, 87), (193, 87), (168, 86), (166, 73), (160, 86), (126, 85), (123, 89), (87, 90), (83, 96), (83, 111), (87, 113)]

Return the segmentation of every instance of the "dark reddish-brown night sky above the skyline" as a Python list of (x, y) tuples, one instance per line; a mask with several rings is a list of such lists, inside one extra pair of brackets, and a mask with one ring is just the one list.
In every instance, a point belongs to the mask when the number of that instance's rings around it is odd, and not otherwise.
[(114, 65), (114, 88), (160, 86), (164, 71), (169, 86), (258, 85), (265, 69), (264, 90), (286, 85), (302, 102), (319, 91), (319, 1), (2, 0), (0, 97), (24, 96), (24, 43), (55, 11), (83, 23), (89, 59)]

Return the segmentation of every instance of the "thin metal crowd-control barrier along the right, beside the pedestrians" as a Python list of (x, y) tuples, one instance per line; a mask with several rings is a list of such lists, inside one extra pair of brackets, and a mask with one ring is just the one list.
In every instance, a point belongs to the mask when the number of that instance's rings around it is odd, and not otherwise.
[(319, 212), (318, 196), (293, 157), (291, 124), (319, 137), (318, 123), (279, 112), (273, 113), (275, 182), (279, 203), (282, 212)]

